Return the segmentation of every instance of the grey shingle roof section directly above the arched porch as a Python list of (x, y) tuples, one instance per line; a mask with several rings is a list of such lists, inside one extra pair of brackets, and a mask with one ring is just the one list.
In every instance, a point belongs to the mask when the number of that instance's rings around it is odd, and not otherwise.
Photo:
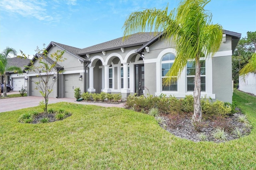
[(123, 37), (110, 40), (108, 42), (100, 43), (90, 47), (86, 47), (80, 50), (79, 55), (85, 55), (90, 53), (98, 53), (100, 51), (110, 51), (119, 49), (122, 47), (133, 47), (137, 45), (144, 45), (156, 35), (152, 32), (136, 33), (130, 35), (126, 40), (122, 40)]

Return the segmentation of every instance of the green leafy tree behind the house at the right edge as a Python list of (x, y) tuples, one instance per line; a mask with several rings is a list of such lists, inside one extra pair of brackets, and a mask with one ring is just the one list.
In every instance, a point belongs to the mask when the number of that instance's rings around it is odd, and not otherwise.
[(232, 56), (232, 79), (238, 83), (239, 71), (248, 63), (252, 55), (256, 52), (256, 31), (247, 32), (247, 37), (242, 38)]

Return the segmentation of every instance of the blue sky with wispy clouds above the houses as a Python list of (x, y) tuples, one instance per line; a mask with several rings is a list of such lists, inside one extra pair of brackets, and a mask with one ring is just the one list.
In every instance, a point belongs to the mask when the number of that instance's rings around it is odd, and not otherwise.
[[(144, 8), (177, 8), (178, 0), (1, 0), (0, 52), (7, 46), (30, 55), (58, 42), (89, 47), (123, 36), (128, 15)], [(255, 0), (212, 0), (205, 7), (213, 24), (242, 37), (256, 31)]]

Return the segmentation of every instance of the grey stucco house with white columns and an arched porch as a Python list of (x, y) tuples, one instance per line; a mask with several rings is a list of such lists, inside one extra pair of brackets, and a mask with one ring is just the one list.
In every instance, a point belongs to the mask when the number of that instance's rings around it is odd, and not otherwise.
[[(232, 102), (231, 56), (240, 37), (225, 30), (218, 52), (212, 58), (201, 59), (202, 97)], [(175, 44), (163, 40), (162, 34), (137, 33), (125, 41), (117, 38), (84, 49), (51, 42), (46, 49), (48, 55), (66, 50), (63, 57), (67, 60), (58, 63), (65, 72), (59, 74), (52, 97), (74, 97), (76, 87), (89, 93), (121, 93), (124, 99), (133, 93), (181, 98), (194, 91), (193, 61), (188, 62), (177, 82), (162, 85), (176, 54)], [(32, 83), (36, 75), (28, 76), (28, 95), (39, 95)]]

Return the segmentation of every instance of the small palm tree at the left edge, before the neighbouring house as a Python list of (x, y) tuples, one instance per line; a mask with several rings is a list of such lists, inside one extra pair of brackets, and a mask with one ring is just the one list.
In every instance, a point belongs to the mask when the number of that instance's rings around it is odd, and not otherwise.
[[(9, 66), (7, 62), (7, 58), (10, 57), (10, 54), (13, 54), (14, 56), (17, 55), (17, 52), (15, 49), (11, 47), (6, 47), (2, 53), (0, 53), (0, 77), (1, 75), (4, 76), (4, 97), (6, 97), (6, 72), (7, 71), (14, 71), (18, 73), (22, 73), (20, 67), (16, 66)], [(2, 97), (1, 93), (2, 87), (0, 87), (0, 97)]]

